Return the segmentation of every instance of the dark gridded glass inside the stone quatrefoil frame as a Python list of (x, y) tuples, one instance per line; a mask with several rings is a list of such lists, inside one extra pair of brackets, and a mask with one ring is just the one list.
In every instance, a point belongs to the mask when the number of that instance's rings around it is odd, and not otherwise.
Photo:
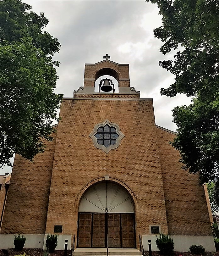
[(116, 128), (105, 125), (97, 129), (97, 133), (94, 135), (97, 138), (97, 143), (109, 147), (110, 145), (116, 144), (116, 139), (118, 134), (116, 133)]

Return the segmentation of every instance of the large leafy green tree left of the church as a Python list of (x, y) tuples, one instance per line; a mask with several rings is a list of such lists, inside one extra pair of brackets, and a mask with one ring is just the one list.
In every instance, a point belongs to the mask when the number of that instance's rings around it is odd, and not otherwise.
[(21, 0), (0, 0), (0, 165), (11, 166), (14, 153), (27, 158), (52, 140), (62, 95), (56, 95), (52, 55), (60, 43), (42, 29), (44, 14), (29, 11)]

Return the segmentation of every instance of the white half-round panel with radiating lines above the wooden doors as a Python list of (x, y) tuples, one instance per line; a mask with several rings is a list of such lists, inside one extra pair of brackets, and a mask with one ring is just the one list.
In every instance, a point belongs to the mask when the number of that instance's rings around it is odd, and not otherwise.
[(79, 212), (134, 213), (128, 191), (114, 182), (103, 181), (89, 187), (79, 203)]

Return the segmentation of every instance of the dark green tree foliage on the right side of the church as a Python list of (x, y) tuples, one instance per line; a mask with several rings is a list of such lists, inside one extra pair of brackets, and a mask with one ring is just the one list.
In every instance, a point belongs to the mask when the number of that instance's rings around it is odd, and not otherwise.
[(175, 75), (161, 94), (193, 96), (189, 106), (173, 109), (183, 168), (198, 173), (200, 184), (217, 181), (219, 170), (219, 2), (218, 0), (146, 0), (157, 3), (162, 26), (154, 29), (163, 54), (178, 50), (159, 65)]

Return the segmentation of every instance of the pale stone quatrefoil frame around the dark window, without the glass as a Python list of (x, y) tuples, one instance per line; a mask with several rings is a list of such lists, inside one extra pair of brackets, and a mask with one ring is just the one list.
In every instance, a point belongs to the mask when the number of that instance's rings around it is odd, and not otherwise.
[[(95, 137), (95, 134), (97, 133), (97, 129), (100, 126), (109, 125), (111, 127), (114, 127), (116, 129), (117, 134), (119, 135), (116, 139), (116, 143), (114, 145), (109, 145), (108, 147), (105, 147), (104, 145), (97, 143), (97, 138)], [(105, 153), (108, 153), (111, 149), (117, 148), (120, 145), (120, 142), (122, 138), (124, 137), (124, 134), (120, 131), (120, 128), (117, 124), (111, 123), (109, 120), (104, 120), (102, 123), (96, 124), (94, 126), (94, 130), (89, 134), (90, 138), (93, 140), (94, 146), (96, 148), (102, 149)]]

